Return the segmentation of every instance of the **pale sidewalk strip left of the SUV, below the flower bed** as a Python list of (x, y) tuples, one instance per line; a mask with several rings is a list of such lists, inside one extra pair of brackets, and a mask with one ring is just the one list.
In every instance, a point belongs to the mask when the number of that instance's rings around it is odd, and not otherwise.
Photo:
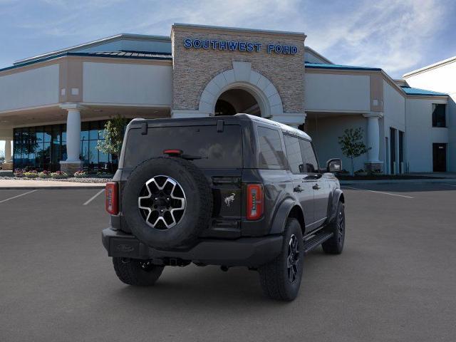
[(78, 183), (58, 180), (0, 180), (0, 190), (6, 189), (103, 189), (105, 183)]

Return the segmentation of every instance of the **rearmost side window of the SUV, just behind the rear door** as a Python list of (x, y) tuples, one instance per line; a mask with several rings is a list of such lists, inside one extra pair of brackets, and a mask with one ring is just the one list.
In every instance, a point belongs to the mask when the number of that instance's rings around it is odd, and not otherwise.
[(259, 163), (270, 168), (284, 167), (284, 151), (278, 130), (266, 127), (258, 128)]

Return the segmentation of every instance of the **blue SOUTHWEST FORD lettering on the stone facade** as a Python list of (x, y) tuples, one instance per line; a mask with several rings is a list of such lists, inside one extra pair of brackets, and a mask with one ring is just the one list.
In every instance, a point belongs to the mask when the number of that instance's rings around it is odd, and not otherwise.
[(261, 43), (253, 43), (247, 41), (213, 41), (212, 39), (184, 39), (185, 48), (202, 48), (205, 50), (219, 50), (219, 51), (245, 51), (245, 52), (259, 52), (265, 49), (267, 53), (278, 53), (284, 55), (294, 55), (298, 52), (297, 46), (294, 45), (281, 45), (281, 44), (266, 44), (263, 47)]

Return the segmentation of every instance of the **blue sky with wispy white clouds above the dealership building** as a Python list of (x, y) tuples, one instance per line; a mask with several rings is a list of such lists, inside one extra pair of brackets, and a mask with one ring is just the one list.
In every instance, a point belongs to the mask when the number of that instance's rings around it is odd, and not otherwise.
[(455, 18), (445, 0), (0, 0), (0, 67), (116, 33), (168, 36), (181, 22), (302, 31), (334, 63), (398, 78), (456, 55)]

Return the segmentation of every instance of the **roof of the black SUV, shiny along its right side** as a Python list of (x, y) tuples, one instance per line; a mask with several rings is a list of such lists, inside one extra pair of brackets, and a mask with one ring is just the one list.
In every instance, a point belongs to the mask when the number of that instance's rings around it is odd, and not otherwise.
[(154, 125), (166, 125), (170, 123), (185, 123), (185, 122), (207, 122), (207, 121), (214, 121), (214, 120), (227, 120), (227, 123), (234, 123), (235, 121), (239, 120), (252, 120), (252, 121), (257, 121), (259, 123), (264, 123), (266, 125), (274, 125), (277, 128), (280, 128), (282, 132), (284, 133), (289, 133), (291, 135), (297, 135), (301, 138), (304, 138), (306, 140), (312, 140), (311, 137), (304, 133), (302, 130), (299, 130), (297, 128), (293, 128), (289, 125), (285, 125), (284, 123), (278, 123), (274, 120), (269, 120), (266, 118), (261, 118), (256, 115), (250, 115), (250, 114), (245, 114), (245, 113), (238, 113), (236, 115), (220, 115), (220, 116), (209, 116), (209, 117), (202, 117), (202, 118), (164, 118), (164, 119), (142, 119), (142, 118), (135, 118), (131, 121), (131, 124), (133, 123), (140, 123), (142, 121), (147, 121), (148, 123), (152, 123)]

